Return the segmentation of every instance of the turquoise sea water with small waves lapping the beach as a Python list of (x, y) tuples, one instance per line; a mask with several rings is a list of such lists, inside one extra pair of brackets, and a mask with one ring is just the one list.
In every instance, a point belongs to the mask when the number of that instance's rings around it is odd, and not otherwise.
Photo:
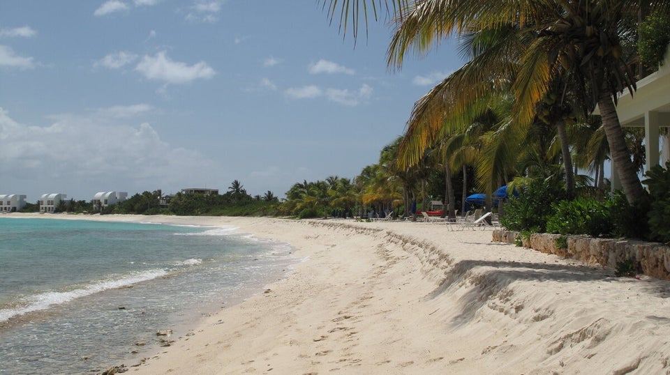
[(283, 277), (291, 252), (232, 227), (0, 217), (0, 374), (137, 363), (158, 331), (193, 334)]

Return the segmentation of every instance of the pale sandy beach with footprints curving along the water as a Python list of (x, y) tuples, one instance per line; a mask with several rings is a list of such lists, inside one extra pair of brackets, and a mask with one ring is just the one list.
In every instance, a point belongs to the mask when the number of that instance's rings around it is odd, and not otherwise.
[(670, 374), (670, 282), (491, 243), (490, 230), (93, 218), (234, 225), (308, 258), (128, 374)]

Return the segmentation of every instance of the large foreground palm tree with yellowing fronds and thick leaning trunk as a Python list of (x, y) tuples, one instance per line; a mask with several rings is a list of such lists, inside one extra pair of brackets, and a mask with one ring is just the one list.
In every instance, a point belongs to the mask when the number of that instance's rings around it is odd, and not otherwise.
[[(621, 40), (626, 24), (634, 24), (634, 13), (645, 1), (586, 0), (586, 1), (534, 1), (516, 2), (488, 0), (394, 0), (394, 1), (338, 1), (328, 3), (331, 19), (341, 14), (341, 24), (350, 22), (357, 30), (359, 17), (366, 20), (368, 13), (361, 13), (361, 3), (372, 3), (373, 14), (382, 3), (392, 6), (395, 13), (396, 33), (389, 47), (389, 66), (401, 67), (410, 49), (424, 53), (452, 33), (463, 35), (468, 31), (509, 31), (516, 27), (524, 35), (532, 36), (519, 61), (503, 56), (509, 49), (498, 49), (501, 59), (488, 61), (473, 59), (466, 64), (459, 79), (447, 79), (435, 86), (419, 100), (412, 112), (410, 123), (429, 123), (437, 128), (442, 125), (445, 113), (461, 109), (486, 96), (491, 90), (500, 89), (501, 82), (509, 79), (510, 70), (516, 71), (512, 93), (516, 100), (514, 121), (527, 125), (533, 121), (537, 104), (551, 90), (556, 77), (565, 77), (564, 89), (579, 87), (583, 103), (597, 103), (602, 116), (613, 163), (620, 177), (623, 190), (630, 204), (640, 201), (644, 191), (630, 161), (623, 130), (616, 115), (616, 95), (627, 89), (634, 91), (634, 73), (623, 56)], [(645, 5), (667, 10), (668, 1), (655, 1)], [(362, 7), (367, 10), (366, 6)], [(338, 11), (339, 9), (339, 11)], [(346, 26), (344, 27), (346, 31)], [(356, 37), (356, 32), (354, 32)], [(519, 49), (516, 49), (517, 51)], [(496, 66), (491, 62), (500, 63)], [(464, 68), (466, 68), (464, 67)], [(461, 68), (463, 69), (463, 68)], [(504, 74), (502, 74), (504, 73)], [(470, 87), (465, 83), (470, 84)], [(457, 91), (454, 87), (468, 88)], [(590, 97), (589, 100), (586, 100)]]

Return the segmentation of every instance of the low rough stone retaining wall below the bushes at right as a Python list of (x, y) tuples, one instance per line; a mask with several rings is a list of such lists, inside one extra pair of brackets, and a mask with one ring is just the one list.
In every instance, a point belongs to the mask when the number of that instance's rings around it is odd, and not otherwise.
[[(518, 232), (493, 231), (493, 241), (514, 243)], [(565, 237), (567, 248), (559, 248), (556, 240)], [(617, 240), (588, 236), (561, 236), (560, 234), (535, 233), (523, 241), (524, 247), (559, 257), (578, 259), (590, 264), (616, 268), (616, 263), (634, 260), (640, 273), (670, 280), (670, 246), (639, 240)]]

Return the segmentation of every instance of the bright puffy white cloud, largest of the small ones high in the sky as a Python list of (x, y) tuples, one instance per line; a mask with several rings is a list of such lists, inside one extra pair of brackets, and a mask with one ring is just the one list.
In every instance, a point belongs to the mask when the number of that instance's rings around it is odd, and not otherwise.
[(209, 79), (216, 74), (204, 61), (188, 66), (186, 63), (170, 60), (165, 51), (158, 52), (156, 56), (142, 57), (135, 70), (141, 72), (147, 79), (170, 84), (185, 84), (201, 78)]

